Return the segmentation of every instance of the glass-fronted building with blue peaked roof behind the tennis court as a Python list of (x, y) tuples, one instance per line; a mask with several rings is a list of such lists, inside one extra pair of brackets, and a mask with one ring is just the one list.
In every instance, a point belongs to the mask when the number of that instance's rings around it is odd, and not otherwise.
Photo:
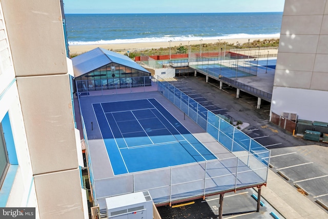
[(151, 73), (126, 55), (103, 48), (72, 58), (79, 91), (107, 90), (151, 85)]

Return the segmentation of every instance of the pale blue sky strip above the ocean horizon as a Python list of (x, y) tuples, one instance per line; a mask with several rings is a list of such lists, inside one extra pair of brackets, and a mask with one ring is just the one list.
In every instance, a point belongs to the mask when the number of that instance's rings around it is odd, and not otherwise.
[(66, 14), (282, 12), (284, 0), (63, 0)]

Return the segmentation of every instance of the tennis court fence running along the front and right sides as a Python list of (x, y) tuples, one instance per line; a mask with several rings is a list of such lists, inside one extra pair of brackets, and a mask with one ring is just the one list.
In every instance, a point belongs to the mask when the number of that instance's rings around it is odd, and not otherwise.
[[(107, 197), (131, 192), (148, 190), (154, 203), (161, 204), (220, 191), (250, 188), (267, 182), (268, 149), (164, 79), (158, 80), (158, 91), (231, 151), (232, 157), (108, 178), (95, 179), (91, 170), (94, 204), (99, 205), (100, 211), (106, 208)], [(92, 169), (88, 148), (87, 151), (89, 168)]]

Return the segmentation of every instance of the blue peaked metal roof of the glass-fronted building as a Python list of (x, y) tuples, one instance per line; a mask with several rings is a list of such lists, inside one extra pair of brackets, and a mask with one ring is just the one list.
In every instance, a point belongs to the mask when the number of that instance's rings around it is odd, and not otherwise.
[(117, 63), (140, 71), (147, 71), (145, 68), (138, 65), (131, 58), (116, 52), (109, 51), (103, 48), (95, 48), (89, 52), (80, 54), (72, 58), (74, 77), (87, 74), (97, 68), (103, 67), (110, 63)]

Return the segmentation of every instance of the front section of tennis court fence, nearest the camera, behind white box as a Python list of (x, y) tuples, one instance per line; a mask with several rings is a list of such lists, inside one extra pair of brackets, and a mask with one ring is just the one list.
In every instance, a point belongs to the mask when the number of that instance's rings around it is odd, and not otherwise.
[[(270, 152), (255, 153), (270, 156)], [(142, 171), (95, 180), (100, 211), (106, 198), (148, 190), (155, 204), (172, 203), (219, 191), (236, 191), (267, 182), (268, 165), (254, 154)]]

